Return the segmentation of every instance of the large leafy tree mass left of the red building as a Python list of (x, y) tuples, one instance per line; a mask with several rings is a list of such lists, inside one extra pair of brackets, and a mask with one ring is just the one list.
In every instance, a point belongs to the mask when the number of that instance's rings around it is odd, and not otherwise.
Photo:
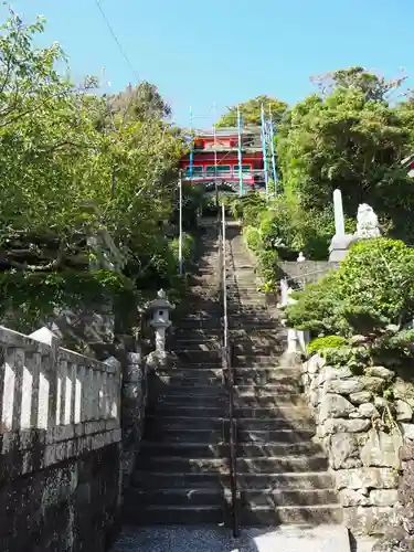
[[(24, 25), (12, 12), (0, 36), (2, 295), (10, 305), (13, 294), (38, 294), (45, 314), (77, 300), (70, 291), (78, 283), (73, 270), (84, 273), (89, 288), (85, 238), (102, 227), (126, 255), (132, 288), (169, 287), (177, 254), (164, 221), (183, 151), (164, 120), (169, 108), (148, 83), (110, 100), (93, 93), (94, 78), (75, 86), (55, 68), (64, 63), (57, 44), (34, 46), (43, 30), (43, 20)], [(14, 273), (12, 286), (8, 274)], [(96, 274), (96, 291), (110, 295), (109, 280)], [(25, 302), (30, 309), (35, 301)]]

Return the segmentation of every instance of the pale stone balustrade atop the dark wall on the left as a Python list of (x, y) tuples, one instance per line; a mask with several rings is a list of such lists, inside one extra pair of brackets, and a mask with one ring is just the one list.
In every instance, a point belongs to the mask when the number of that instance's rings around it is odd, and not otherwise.
[(0, 326), (0, 454), (17, 442), (33, 448), (35, 439), (46, 466), (120, 440), (115, 358), (99, 362), (59, 347), (46, 328), (24, 336)]

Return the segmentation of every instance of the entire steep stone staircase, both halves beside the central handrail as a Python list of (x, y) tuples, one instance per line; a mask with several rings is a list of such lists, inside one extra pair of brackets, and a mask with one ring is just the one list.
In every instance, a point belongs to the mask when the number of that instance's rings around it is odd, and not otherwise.
[[(229, 421), (221, 368), (217, 242), (205, 254), (173, 332), (173, 365), (150, 382), (141, 454), (124, 497), (127, 524), (229, 524)], [(322, 449), (286, 359), (286, 331), (257, 291), (237, 227), (229, 229), (227, 290), (235, 367), (243, 526), (341, 521)]]

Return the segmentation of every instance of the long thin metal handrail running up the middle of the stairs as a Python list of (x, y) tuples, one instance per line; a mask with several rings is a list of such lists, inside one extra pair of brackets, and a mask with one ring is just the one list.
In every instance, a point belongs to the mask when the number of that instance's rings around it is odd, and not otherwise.
[(229, 336), (227, 314), (227, 285), (226, 285), (226, 247), (225, 247), (225, 208), (222, 205), (221, 221), (219, 214), (219, 261), (221, 273), (222, 302), (223, 302), (223, 347), (222, 367), (229, 397), (229, 460), (230, 460), (230, 485), (232, 493), (232, 529), (233, 537), (240, 534), (238, 528), (238, 489), (237, 489), (237, 427), (234, 416), (234, 368), (232, 364), (231, 343)]

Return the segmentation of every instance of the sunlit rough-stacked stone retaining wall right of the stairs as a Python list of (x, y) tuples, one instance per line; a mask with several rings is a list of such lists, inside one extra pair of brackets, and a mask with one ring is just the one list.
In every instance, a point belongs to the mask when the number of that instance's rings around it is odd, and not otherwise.
[(393, 381), (395, 373), (384, 367), (354, 375), (349, 368), (326, 365), (319, 355), (302, 364), (317, 438), (328, 453), (344, 521), (355, 532), (378, 534), (390, 524), (403, 467), (400, 449), (414, 439), (410, 401), (395, 396), (390, 407), (382, 396)]

